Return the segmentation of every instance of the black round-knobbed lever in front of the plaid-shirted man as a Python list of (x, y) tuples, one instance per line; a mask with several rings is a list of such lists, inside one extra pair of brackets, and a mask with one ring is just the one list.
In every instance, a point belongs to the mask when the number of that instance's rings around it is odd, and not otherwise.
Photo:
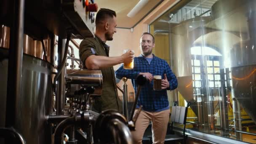
[(140, 94), (140, 91), (141, 91), (141, 86), (144, 85), (147, 82), (147, 78), (146, 78), (145, 75), (139, 75), (137, 77), (136, 81), (137, 81), (137, 84), (138, 84), (138, 88), (137, 88), (137, 91), (136, 91), (135, 101), (133, 103), (133, 107), (132, 107), (132, 110), (131, 110), (130, 121), (133, 120), (133, 114), (134, 114), (134, 111), (135, 111), (135, 108), (136, 108), (136, 104), (137, 104), (138, 99), (139, 99), (139, 94)]

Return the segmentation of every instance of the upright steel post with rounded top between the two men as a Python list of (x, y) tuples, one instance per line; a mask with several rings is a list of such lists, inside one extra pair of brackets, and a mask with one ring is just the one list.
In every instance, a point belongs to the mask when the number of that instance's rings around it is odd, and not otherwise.
[(125, 116), (125, 118), (128, 120), (128, 98), (127, 98), (127, 78), (123, 77), (123, 115)]

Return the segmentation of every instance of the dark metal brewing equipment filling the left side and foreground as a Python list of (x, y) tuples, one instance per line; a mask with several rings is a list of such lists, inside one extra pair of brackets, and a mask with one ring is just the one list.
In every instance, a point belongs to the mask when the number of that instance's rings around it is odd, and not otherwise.
[(1, 144), (61, 144), (64, 132), (69, 144), (79, 135), (80, 142), (92, 143), (95, 135), (95, 142), (132, 143), (133, 121), (112, 110), (91, 111), (93, 97), (101, 95), (101, 71), (83, 69), (69, 45), (72, 38), (94, 37), (96, 11), (94, 0), (1, 2), (0, 138), (15, 136)]

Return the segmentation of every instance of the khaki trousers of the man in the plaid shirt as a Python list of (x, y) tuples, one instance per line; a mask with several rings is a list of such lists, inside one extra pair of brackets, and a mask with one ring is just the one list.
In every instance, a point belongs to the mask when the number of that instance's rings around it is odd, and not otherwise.
[(150, 120), (152, 121), (153, 144), (164, 144), (169, 115), (170, 109), (161, 112), (147, 112), (142, 110), (135, 123), (136, 130), (131, 132), (134, 144), (142, 144), (142, 138)]

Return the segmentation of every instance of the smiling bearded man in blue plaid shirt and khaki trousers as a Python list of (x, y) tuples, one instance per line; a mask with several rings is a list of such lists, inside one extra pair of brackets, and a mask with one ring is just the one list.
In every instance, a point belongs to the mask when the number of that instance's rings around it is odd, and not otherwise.
[[(123, 69), (123, 66), (121, 66), (116, 71), (117, 78), (127, 77), (132, 80), (135, 91), (138, 87), (136, 84), (136, 77), (138, 75), (145, 75), (148, 80), (141, 88), (137, 103), (137, 108), (142, 106), (142, 111), (135, 124), (136, 131), (132, 131), (135, 144), (142, 143), (142, 138), (149, 125), (149, 121), (152, 122), (153, 143), (164, 144), (170, 114), (167, 90), (174, 90), (178, 86), (176, 76), (173, 74), (168, 63), (152, 54), (154, 47), (154, 36), (144, 32), (140, 39), (141, 55), (134, 58), (133, 69)], [(153, 90), (153, 75), (162, 76), (162, 90)]]

